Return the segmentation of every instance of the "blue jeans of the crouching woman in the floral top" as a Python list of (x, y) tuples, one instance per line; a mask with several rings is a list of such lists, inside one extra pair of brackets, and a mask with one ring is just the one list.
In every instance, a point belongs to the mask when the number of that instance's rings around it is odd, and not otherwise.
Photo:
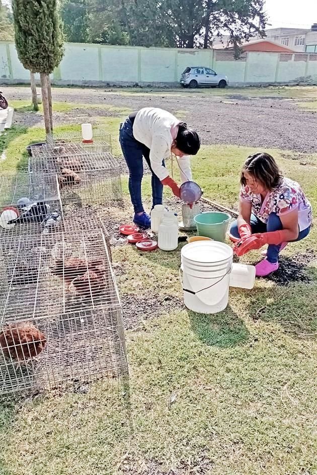
[[(259, 218), (257, 218), (254, 214), (252, 214), (251, 219), (250, 219), (250, 224), (251, 224), (252, 234), (270, 233), (271, 231), (280, 231), (281, 229), (283, 229), (282, 222), (276, 213), (270, 214), (267, 224), (262, 223), (262, 221), (260, 221)], [(310, 231), (310, 226), (306, 229), (303, 229), (302, 231), (299, 231), (298, 238), (292, 242), (296, 242), (296, 241), (300, 241), (301, 239), (304, 239), (309, 233), (309, 231)], [(237, 220), (235, 220), (232, 223), (231, 228), (230, 228), (230, 234), (237, 239), (240, 238), (240, 234), (239, 234), (239, 230), (237, 226)], [(278, 245), (270, 244), (268, 247), (266, 258), (272, 264), (278, 261), (280, 247), (281, 247), (280, 244)]]

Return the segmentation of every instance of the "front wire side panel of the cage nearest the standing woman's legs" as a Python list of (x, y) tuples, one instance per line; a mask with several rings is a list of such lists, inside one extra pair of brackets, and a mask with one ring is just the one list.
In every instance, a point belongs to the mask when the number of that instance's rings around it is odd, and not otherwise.
[(120, 169), (58, 174), (63, 205), (123, 204)]

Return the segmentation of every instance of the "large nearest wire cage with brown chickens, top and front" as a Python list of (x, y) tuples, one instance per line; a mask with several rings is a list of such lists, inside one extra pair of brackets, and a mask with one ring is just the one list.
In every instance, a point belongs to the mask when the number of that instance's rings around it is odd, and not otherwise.
[(0, 275), (0, 393), (127, 370), (102, 230), (20, 236)]

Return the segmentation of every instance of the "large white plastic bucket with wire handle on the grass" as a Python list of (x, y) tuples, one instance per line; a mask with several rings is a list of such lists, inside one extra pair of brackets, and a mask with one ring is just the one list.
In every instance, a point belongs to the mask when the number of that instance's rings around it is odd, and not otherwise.
[(184, 303), (197, 313), (221, 312), (228, 305), (233, 251), (218, 241), (196, 241), (183, 247)]

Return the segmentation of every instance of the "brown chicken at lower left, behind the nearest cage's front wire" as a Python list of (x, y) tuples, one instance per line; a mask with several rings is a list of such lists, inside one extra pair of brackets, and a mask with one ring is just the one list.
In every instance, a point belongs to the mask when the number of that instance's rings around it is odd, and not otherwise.
[(4, 354), (19, 361), (38, 356), (45, 344), (45, 335), (29, 322), (11, 323), (0, 333), (0, 346)]

